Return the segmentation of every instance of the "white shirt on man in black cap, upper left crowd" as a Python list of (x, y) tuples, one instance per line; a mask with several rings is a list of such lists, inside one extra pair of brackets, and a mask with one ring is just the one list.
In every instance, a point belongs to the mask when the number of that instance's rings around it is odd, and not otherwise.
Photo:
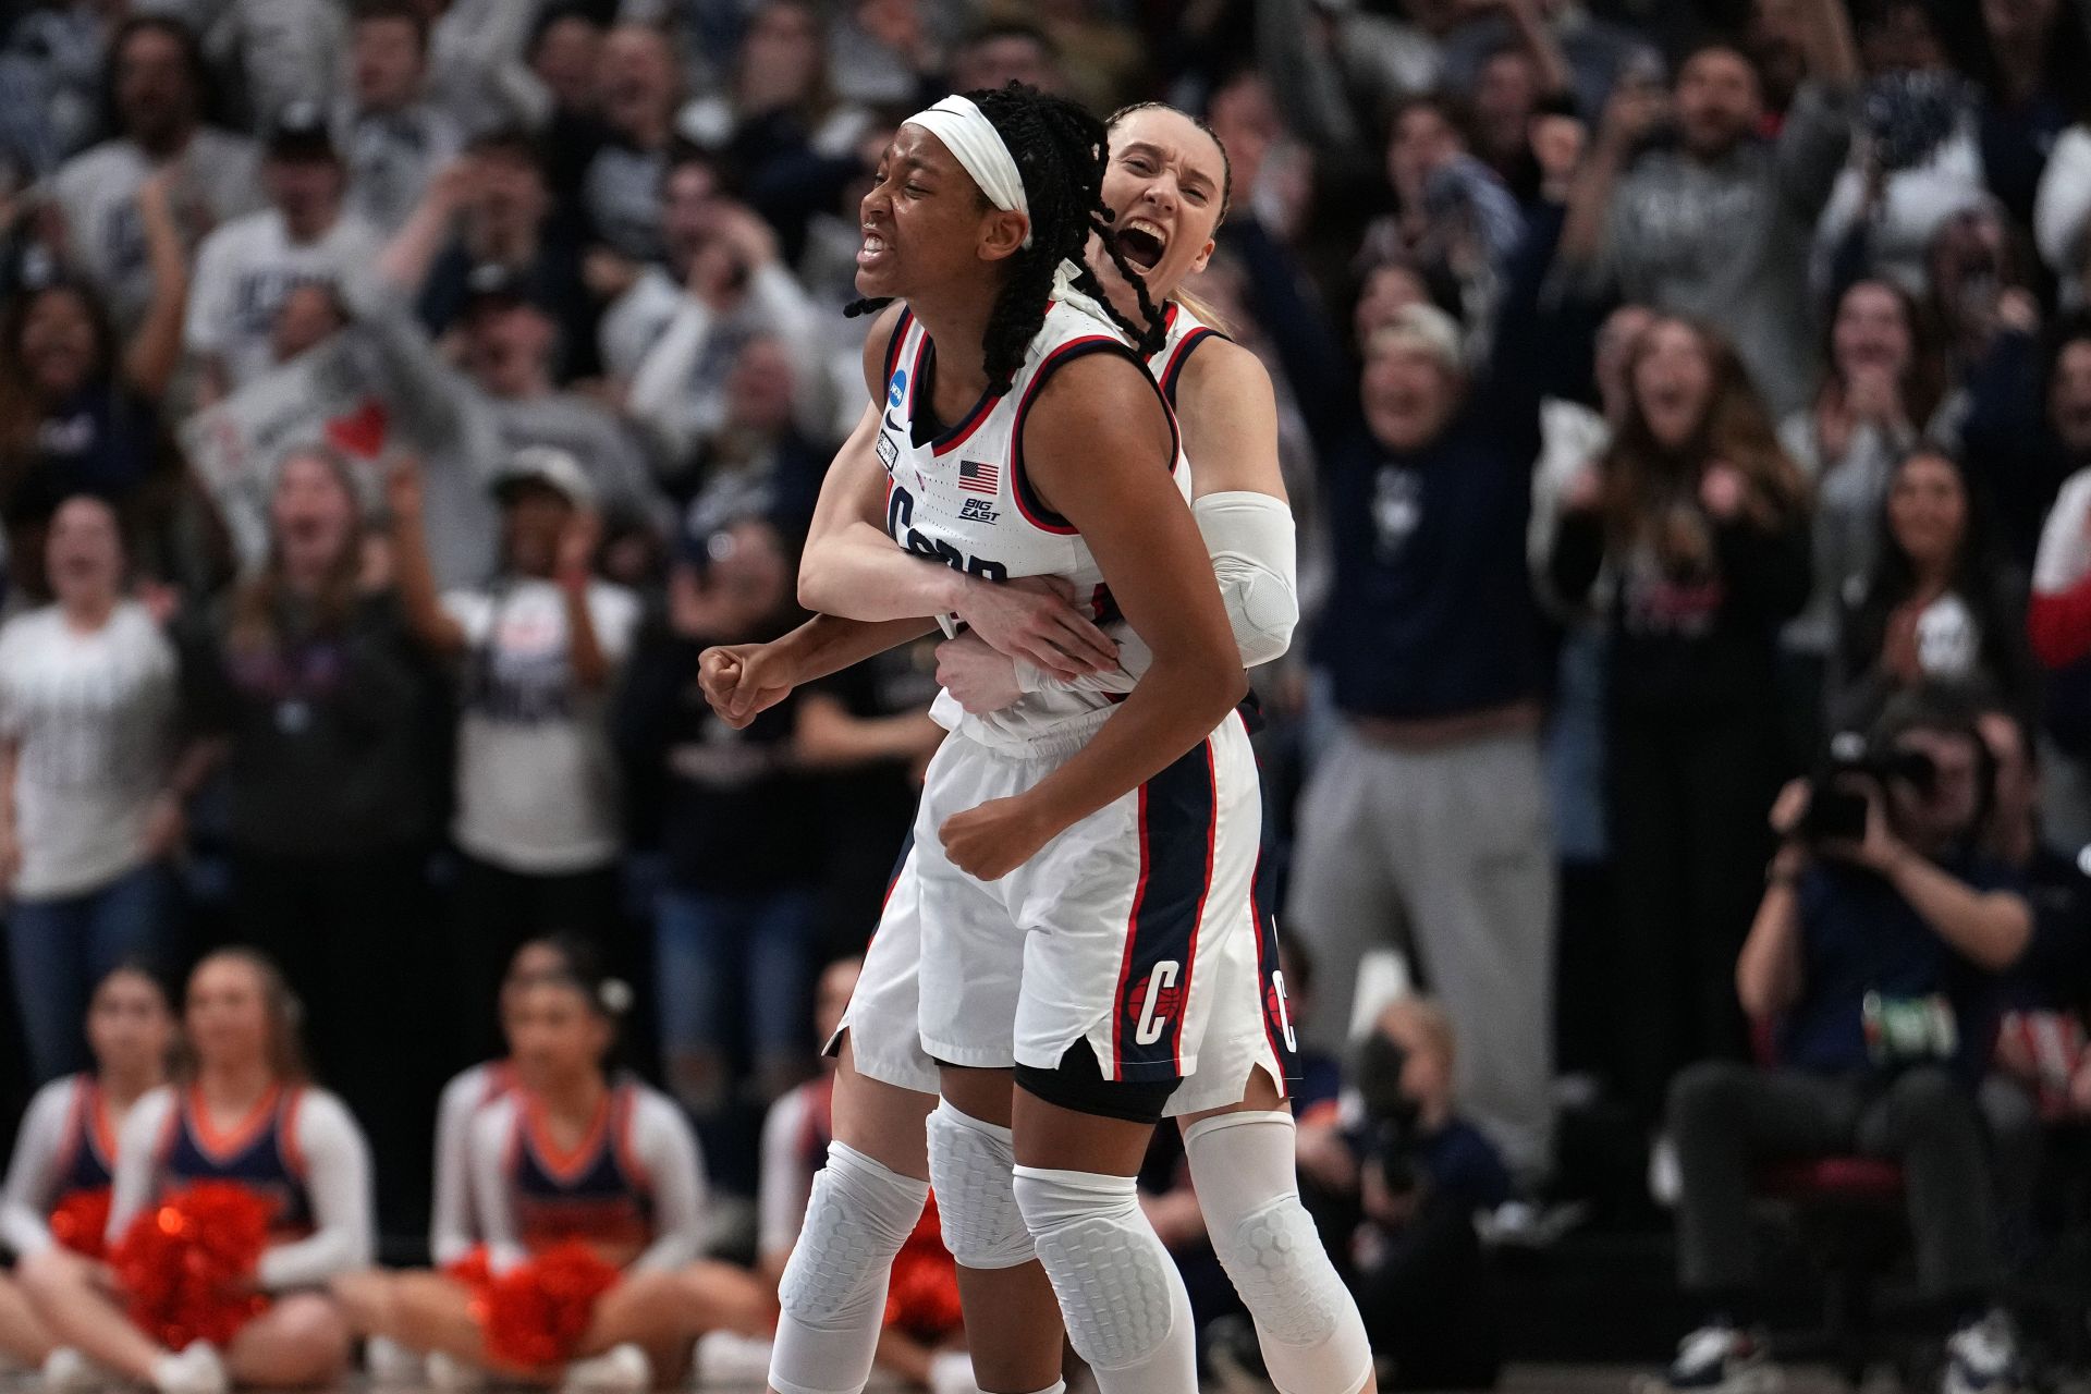
[(276, 311), (295, 286), (339, 286), (376, 265), (385, 240), (353, 213), (335, 219), (318, 240), (293, 242), (276, 209), (238, 217), (203, 238), (188, 286), (190, 353), (224, 359), (238, 389), (270, 370)]

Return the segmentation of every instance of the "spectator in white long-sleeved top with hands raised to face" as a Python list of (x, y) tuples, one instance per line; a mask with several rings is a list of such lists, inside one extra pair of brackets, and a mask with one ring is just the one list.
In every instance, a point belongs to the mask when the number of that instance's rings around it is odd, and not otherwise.
[[(726, 385), (751, 341), (780, 341), (795, 368), (820, 357), (815, 309), (780, 259), (776, 234), (723, 194), (717, 165), (686, 148), (665, 186), (667, 259), (602, 316), (602, 362), (629, 385), (625, 410), (673, 474), (726, 422)], [(820, 374), (795, 374), (795, 389), (799, 420), (824, 424)]]

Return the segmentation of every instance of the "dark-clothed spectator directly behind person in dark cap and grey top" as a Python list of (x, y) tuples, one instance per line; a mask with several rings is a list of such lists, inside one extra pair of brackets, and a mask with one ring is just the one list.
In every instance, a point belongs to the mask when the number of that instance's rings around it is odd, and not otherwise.
[(558, 380), (600, 372), (600, 309), (581, 280), (581, 249), (552, 215), (537, 142), (519, 130), (475, 138), (462, 161), (429, 180), (385, 265), (393, 282), (420, 286), (416, 309), (431, 334), (458, 324), (475, 272), (500, 268), (556, 322)]

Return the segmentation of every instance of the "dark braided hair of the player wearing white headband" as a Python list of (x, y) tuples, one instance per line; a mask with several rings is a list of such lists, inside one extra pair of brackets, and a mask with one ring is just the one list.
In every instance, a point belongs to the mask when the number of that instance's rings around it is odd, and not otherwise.
[[(987, 393), (999, 397), (1010, 391), (1031, 341), (1046, 324), (1052, 280), (1062, 261), (1075, 270), (1075, 288), (1110, 316), (1110, 322), (1138, 345), (1142, 357), (1158, 353), (1165, 339), (1161, 311), (1148, 299), (1140, 272), (1119, 251), (1110, 230), (1110, 209), (1104, 207), (1104, 123), (1066, 98), (1016, 82), (995, 92), (966, 96), (1010, 148), (1031, 209), (1031, 247), (1010, 257), (1008, 276), (995, 293), (995, 307), (981, 343), (987, 359)], [(1140, 295), (1140, 326), (1112, 307), (1104, 282), (1089, 270), (1085, 253), (1092, 232)], [(876, 313), (884, 303), (857, 301), (843, 313)]]

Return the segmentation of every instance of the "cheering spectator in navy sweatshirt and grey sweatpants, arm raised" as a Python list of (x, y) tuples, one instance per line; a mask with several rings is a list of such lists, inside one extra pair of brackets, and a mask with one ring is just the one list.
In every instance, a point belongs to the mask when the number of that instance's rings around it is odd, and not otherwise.
[(1324, 462), (1336, 575), (1313, 656), (1342, 727), (1301, 796), (1288, 901), (1334, 999), (1319, 1039), (1342, 1041), (1359, 957), (1397, 938), (1468, 1035), (1460, 1093), (1529, 1177), (1549, 1166), (1554, 849), (1524, 525), (1558, 228), (1535, 226), (1483, 374), (1426, 305), (1368, 345), (1361, 418)]

